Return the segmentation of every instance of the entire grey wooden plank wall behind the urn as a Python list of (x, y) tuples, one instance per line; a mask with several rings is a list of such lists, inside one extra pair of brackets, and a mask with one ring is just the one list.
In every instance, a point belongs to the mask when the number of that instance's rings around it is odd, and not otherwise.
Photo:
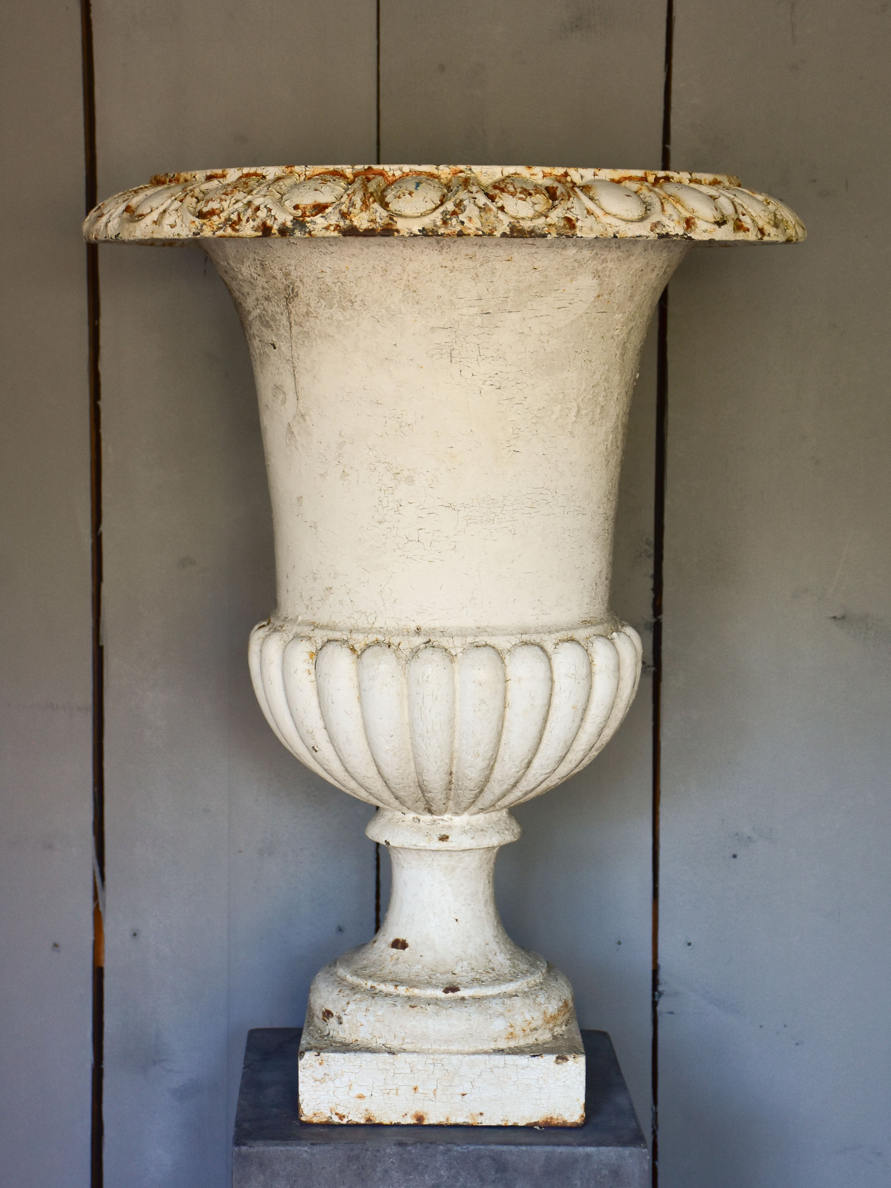
[[(672, 164), (740, 172), (786, 198), (811, 238), (696, 252), (671, 285), (661, 1177), (878, 1188), (891, 583), (872, 175), (887, 169), (876, 96), (889, 12), (675, 7)], [(373, 0), (94, 0), (93, 18), (101, 196), (169, 169), (373, 160), (378, 96), (383, 159), (659, 163), (663, 0), (381, 0), (379, 62)], [(23, 7), (19, 25), (10, 152), (23, 172), (52, 162), (52, 219), (4, 248), (17, 282), (0, 474), (14, 1005), (0, 1050), (14, 1076), (0, 1131), (17, 1152), (11, 1184), (86, 1188), (80, 27), (71, 6)], [(854, 217), (857, 233), (840, 229)], [(291, 759), (251, 691), (245, 645), (274, 601), (272, 539), (229, 298), (190, 249), (105, 248), (101, 286), (105, 1182), (222, 1188), (245, 1031), (299, 1023), (315, 971), (369, 935), (374, 853), (368, 809)], [(655, 406), (651, 334), (613, 592), (647, 658)], [(582, 1024), (612, 1032), (645, 1126), (650, 696), (645, 675), (596, 764), (519, 810), (525, 834), (499, 871), (505, 923), (565, 969)]]

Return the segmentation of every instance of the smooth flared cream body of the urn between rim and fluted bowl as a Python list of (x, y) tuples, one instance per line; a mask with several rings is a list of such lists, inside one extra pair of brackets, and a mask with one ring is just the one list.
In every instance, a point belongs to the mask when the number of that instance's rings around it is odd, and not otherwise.
[(423, 643), (608, 618), (627, 409), (683, 241), (202, 242), (254, 362), (277, 620)]

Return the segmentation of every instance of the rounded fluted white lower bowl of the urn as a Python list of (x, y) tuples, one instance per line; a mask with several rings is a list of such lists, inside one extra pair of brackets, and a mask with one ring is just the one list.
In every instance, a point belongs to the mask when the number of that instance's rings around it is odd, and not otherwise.
[(251, 634), (266, 720), (310, 770), (380, 808), (506, 809), (581, 770), (640, 677), (615, 620), (533, 637), (360, 637), (268, 620)]

